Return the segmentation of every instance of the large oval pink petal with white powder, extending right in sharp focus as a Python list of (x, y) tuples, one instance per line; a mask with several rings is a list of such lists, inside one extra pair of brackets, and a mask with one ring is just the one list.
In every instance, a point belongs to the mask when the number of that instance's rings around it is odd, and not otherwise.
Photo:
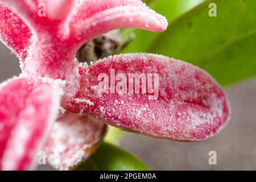
[[(115, 75), (125, 73), (127, 80), (129, 73), (158, 73), (159, 96), (149, 100), (152, 94), (148, 89), (146, 94), (141, 90), (139, 94), (98, 93), (97, 77), (106, 73), (110, 78), (110, 69), (115, 70)], [(64, 107), (100, 117), (121, 129), (157, 138), (196, 141), (216, 134), (230, 118), (229, 102), (217, 82), (183, 61), (151, 54), (119, 55), (89, 68), (81, 67), (80, 74), (80, 92)]]

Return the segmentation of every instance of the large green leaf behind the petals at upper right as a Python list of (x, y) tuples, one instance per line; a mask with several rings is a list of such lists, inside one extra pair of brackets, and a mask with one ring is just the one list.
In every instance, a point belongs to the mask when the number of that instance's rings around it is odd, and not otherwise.
[[(208, 14), (212, 2), (217, 5), (216, 17)], [(221, 85), (233, 84), (256, 76), (255, 17), (255, 0), (205, 1), (172, 23), (154, 42), (144, 41), (148, 38), (145, 34), (137, 46), (145, 45), (137, 51), (188, 61), (208, 71)]]

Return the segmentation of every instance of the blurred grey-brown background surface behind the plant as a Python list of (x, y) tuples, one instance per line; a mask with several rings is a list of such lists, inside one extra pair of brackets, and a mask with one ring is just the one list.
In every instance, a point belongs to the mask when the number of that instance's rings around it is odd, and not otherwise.
[[(19, 61), (0, 43), (0, 81), (19, 75)], [(18, 92), (18, 90), (17, 90)], [(196, 143), (179, 143), (126, 133), (121, 147), (155, 170), (255, 170), (256, 79), (226, 88), (232, 119), (220, 134)], [(209, 151), (217, 152), (217, 164), (208, 163)], [(40, 169), (51, 169), (43, 166)]]

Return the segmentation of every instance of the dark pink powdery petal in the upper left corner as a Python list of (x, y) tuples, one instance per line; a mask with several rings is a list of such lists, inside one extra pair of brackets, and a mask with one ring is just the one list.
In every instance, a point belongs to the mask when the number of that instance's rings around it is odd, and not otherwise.
[(30, 37), (31, 32), (26, 24), (0, 2), (0, 40), (22, 61), (27, 56)]

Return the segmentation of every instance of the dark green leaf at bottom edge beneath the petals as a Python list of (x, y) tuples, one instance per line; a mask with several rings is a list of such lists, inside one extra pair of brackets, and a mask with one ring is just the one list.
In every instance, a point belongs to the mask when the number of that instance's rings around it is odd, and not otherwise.
[(76, 171), (147, 171), (148, 168), (135, 156), (109, 143), (98, 150)]

